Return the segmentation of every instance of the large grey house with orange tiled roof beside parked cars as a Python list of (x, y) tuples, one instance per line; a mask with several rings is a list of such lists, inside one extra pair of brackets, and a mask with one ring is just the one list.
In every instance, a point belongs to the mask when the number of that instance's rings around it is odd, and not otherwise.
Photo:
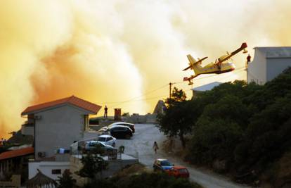
[[(70, 145), (84, 138), (89, 130), (89, 115), (101, 106), (70, 96), (30, 106), (21, 113), (27, 117), (27, 132), (34, 135), (34, 158), (54, 156), (58, 149), (69, 151)], [(24, 131), (25, 132), (25, 131)]]

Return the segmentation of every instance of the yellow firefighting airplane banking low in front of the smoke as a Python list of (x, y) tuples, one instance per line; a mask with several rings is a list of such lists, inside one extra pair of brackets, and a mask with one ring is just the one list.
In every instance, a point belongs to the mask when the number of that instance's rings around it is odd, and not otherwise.
[(189, 66), (188, 68), (185, 68), (184, 70), (188, 70), (189, 68), (192, 69), (195, 73), (195, 75), (191, 75), (190, 77), (184, 77), (183, 81), (188, 81), (189, 85), (193, 84), (192, 80), (195, 77), (198, 77), (202, 74), (221, 74), (221, 73), (227, 73), (230, 71), (235, 70), (235, 65), (231, 62), (224, 62), (234, 56), (235, 54), (238, 54), (238, 52), (243, 50), (243, 53), (247, 53), (247, 43), (243, 43), (242, 46), (240, 46), (239, 49), (236, 49), (235, 51), (231, 52), (229, 54), (226, 51), (226, 55), (221, 56), (220, 58), (215, 60), (215, 63), (209, 63), (205, 65), (204, 67), (201, 66), (201, 63), (203, 60), (205, 60), (208, 57), (205, 58), (198, 58), (198, 61), (195, 60), (190, 54), (187, 55), (187, 58), (189, 60)]

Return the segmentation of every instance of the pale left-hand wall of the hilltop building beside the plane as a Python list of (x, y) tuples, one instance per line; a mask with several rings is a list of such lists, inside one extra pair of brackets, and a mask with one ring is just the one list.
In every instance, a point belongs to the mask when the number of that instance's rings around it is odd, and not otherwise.
[(250, 82), (257, 84), (266, 82), (266, 56), (258, 49), (255, 49), (254, 60), (247, 67), (247, 83)]

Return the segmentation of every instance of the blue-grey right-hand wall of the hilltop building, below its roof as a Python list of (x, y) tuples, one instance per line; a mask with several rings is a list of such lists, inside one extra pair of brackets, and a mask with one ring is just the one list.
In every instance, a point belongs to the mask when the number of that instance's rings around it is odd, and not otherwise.
[(280, 75), (287, 67), (291, 67), (291, 58), (267, 58), (266, 80), (273, 80)]

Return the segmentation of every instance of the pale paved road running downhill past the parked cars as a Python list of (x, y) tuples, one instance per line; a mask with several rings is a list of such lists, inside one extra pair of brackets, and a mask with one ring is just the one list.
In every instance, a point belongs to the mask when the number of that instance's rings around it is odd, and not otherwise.
[(153, 168), (155, 158), (168, 158), (175, 165), (184, 165), (190, 173), (190, 180), (198, 182), (205, 188), (245, 188), (241, 184), (235, 184), (227, 180), (226, 177), (216, 175), (214, 173), (203, 172), (188, 163), (171, 158), (161, 149), (155, 154), (153, 151), (153, 142), (157, 142), (161, 146), (166, 137), (153, 124), (136, 124), (136, 133), (131, 139), (118, 139), (117, 148), (121, 145), (125, 146), (124, 153), (137, 157), (138, 160), (148, 168)]

